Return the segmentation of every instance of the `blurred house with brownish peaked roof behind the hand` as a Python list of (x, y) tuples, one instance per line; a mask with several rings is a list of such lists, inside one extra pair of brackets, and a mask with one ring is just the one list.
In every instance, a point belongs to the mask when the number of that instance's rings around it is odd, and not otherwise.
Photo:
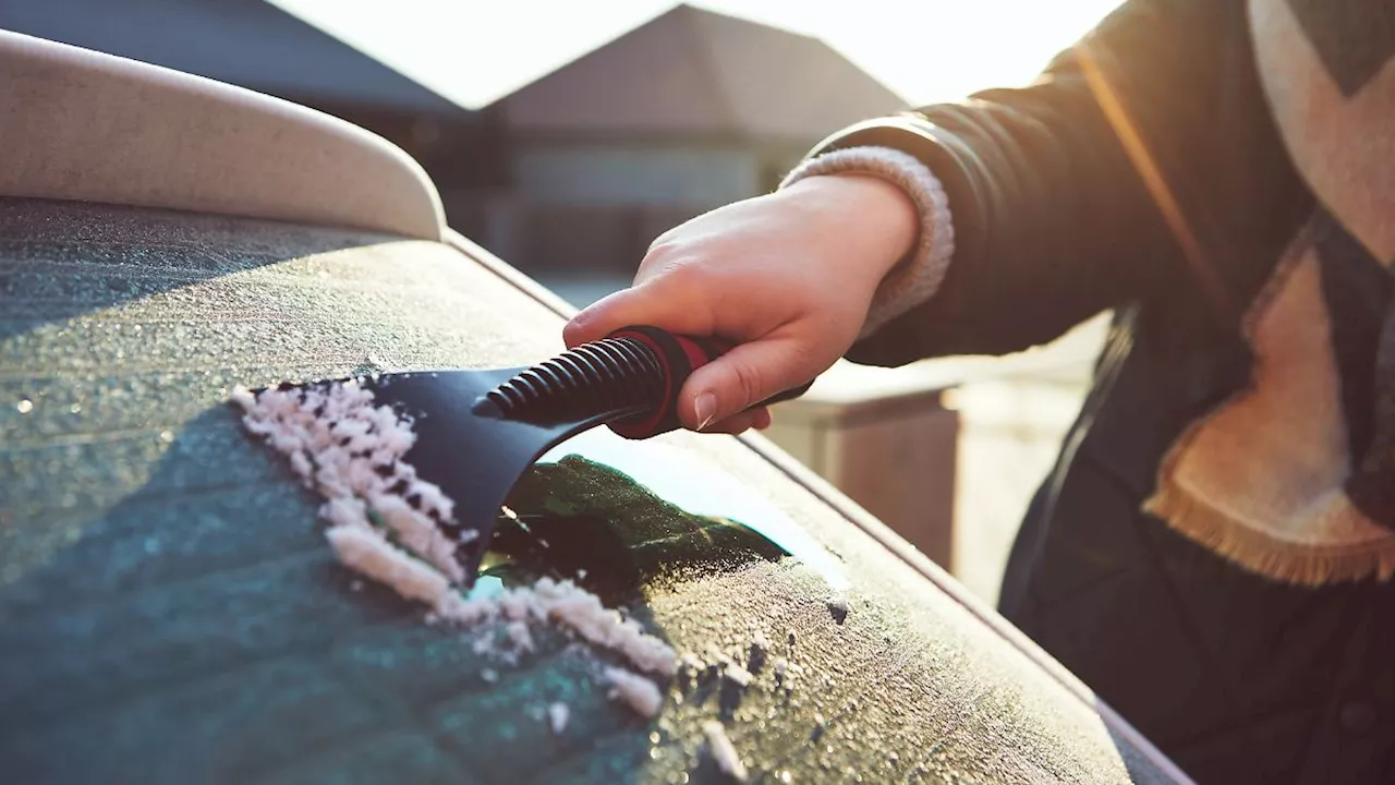
[(822, 41), (678, 6), (494, 106), (511, 177), (476, 235), (544, 279), (628, 277), (664, 229), (901, 106)]

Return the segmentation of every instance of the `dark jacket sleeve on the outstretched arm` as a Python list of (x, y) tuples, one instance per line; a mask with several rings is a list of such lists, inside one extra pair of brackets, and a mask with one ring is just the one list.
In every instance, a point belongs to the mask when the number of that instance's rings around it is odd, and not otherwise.
[(901, 365), (1007, 353), (1163, 293), (1239, 307), (1225, 246), (1302, 189), (1256, 73), (1244, 0), (1130, 0), (1027, 88), (845, 129), (813, 152), (889, 147), (943, 183), (939, 291), (848, 353)]

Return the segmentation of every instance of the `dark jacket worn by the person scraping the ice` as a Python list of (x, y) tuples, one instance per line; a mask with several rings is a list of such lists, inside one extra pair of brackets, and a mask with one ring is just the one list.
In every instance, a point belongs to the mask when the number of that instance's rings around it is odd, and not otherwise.
[(1140, 511), (1182, 429), (1249, 379), (1240, 318), (1314, 210), (1246, 3), (1133, 0), (1030, 88), (819, 149), (865, 144), (932, 168), (956, 253), (851, 359), (1006, 353), (1117, 314), (1003, 613), (1201, 782), (1395, 782), (1395, 587), (1269, 581)]

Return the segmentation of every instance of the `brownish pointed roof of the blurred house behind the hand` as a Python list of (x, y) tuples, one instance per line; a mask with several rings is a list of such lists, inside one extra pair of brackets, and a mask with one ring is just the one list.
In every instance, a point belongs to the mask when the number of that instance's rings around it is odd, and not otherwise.
[(816, 38), (678, 6), (501, 105), (523, 131), (804, 140), (905, 102)]

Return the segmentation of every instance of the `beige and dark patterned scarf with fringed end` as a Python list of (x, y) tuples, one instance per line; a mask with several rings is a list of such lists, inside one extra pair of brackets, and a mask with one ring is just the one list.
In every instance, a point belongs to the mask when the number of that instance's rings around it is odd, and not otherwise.
[(1250, 306), (1251, 384), (1172, 447), (1148, 510), (1318, 585), (1395, 574), (1395, 3), (1250, 0), (1265, 94), (1321, 205)]

